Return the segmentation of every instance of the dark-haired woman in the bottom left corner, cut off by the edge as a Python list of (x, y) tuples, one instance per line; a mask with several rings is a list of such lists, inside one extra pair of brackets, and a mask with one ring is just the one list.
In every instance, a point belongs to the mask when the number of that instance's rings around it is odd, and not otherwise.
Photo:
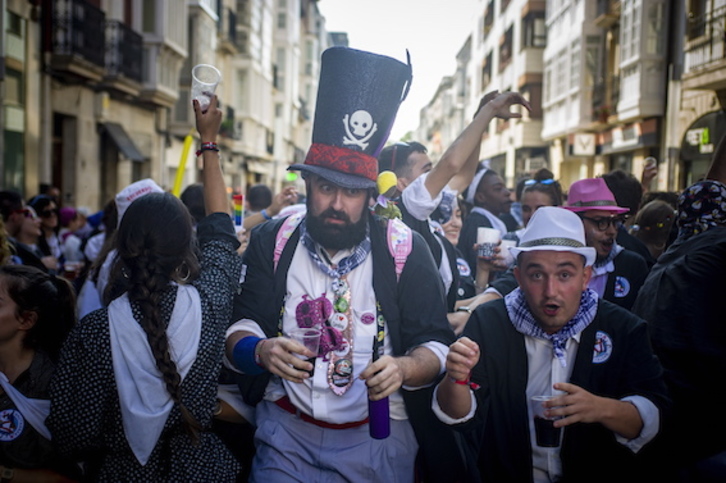
[(61, 344), (75, 322), (70, 284), (25, 265), (0, 268), (0, 476), (3, 481), (63, 481), (45, 425), (48, 386)]

